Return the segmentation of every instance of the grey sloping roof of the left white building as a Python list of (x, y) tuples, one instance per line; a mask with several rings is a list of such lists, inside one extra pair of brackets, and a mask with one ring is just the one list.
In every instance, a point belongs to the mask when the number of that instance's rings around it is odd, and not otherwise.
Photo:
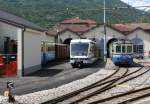
[(15, 25), (18, 27), (28, 27), (28, 28), (38, 30), (38, 31), (46, 31), (46, 29), (41, 28), (40, 26), (35, 25), (34, 23), (28, 20), (25, 20), (24, 18), (15, 16), (13, 14), (10, 14), (8, 12), (4, 12), (1, 10), (0, 10), (0, 21), (6, 22), (8, 24)]

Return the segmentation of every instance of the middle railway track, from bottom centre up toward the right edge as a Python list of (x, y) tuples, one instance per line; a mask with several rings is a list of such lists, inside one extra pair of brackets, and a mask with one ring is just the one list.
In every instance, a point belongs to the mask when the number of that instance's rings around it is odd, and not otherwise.
[[(96, 90), (95, 92), (92, 92), (86, 96), (84, 96), (83, 98), (80, 98), (78, 100), (75, 100), (73, 102), (71, 102), (70, 104), (77, 104), (77, 103), (81, 103), (81, 104), (96, 104), (95, 101), (94, 102), (91, 102), (93, 101), (93, 98), (98, 94), (100, 95), (103, 95), (102, 93), (107, 91), (107, 90), (110, 90), (114, 87), (116, 87), (117, 85), (120, 85), (120, 84), (123, 84), (129, 80), (132, 80), (134, 78), (137, 78), (139, 77), (140, 75), (143, 75), (144, 73), (146, 73), (147, 71), (144, 71), (142, 72), (142, 69), (143, 67), (139, 68), (138, 70), (134, 71), (134, 72), (131, 72), (131, 73), (128, 73), (126, 74), (125, 76), (120, 76), (119, 78), (116, 79), (116, 81), (112, 81), (112, 83), (108, 86), (105, 86), (104, 88), (100, 88), (98, 90)], [(141, 72), (140, 72), (141, 71)], [(139, 74), (140, 73), (140, 74)], [(95, 99), (95, 98), (94, 98)]]

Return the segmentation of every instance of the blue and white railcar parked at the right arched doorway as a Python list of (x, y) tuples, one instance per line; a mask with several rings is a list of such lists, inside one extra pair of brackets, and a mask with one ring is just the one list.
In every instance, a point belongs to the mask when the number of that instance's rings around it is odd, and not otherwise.
[(112, 45), (112, 61), (117, 66), (133, 64), (133, 43), (130, 40), (118, 39)]

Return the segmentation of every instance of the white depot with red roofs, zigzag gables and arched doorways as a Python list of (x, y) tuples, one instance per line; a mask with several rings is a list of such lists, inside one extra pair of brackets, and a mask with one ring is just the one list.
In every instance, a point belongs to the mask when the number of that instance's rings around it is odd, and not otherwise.
[[(93, 20), (66, 19), (57, 24), (59, 42), (69, 44), (71, 39), (89, 38), (96, 40), (103, 56), (104, 26)], [(136, 56), (150, 58), (150, 23), (113, 24), (106, 26), (107, 56), (111, 55), (111, 43), (117, 38), (127, 38), (134, 43)]]

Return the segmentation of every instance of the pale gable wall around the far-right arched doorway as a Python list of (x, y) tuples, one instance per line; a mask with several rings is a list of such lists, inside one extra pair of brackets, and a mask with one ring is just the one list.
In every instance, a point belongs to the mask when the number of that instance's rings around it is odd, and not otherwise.
[(136, 38), (136, 36), (143, 40), (144, 42), (144, 56), (148, 57), (148, 52), (150, 51), (150, 34), (138, 29), (127, 35), (129, 39)]

